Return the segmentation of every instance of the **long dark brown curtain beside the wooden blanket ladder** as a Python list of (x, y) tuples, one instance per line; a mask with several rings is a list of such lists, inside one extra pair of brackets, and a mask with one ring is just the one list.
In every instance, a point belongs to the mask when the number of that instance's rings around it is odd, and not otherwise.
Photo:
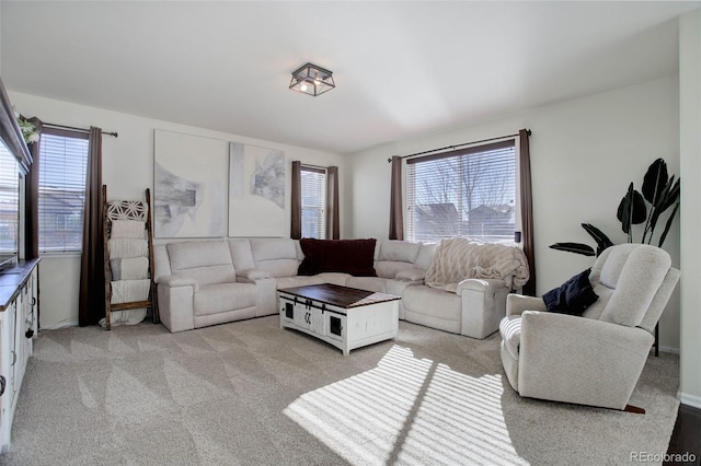
[(94, 325), (105, 316), (104, 238), (102, 224), (102, 129), (88, 137), (83, 248), (80, 261), (78, 323)]

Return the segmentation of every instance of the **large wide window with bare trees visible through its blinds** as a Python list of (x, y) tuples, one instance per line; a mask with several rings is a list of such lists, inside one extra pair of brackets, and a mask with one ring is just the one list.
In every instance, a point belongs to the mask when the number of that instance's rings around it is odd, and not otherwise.
[(410, 159), (406, 206), (411, 241), (513, 242), (519, 208), (515, 141)]

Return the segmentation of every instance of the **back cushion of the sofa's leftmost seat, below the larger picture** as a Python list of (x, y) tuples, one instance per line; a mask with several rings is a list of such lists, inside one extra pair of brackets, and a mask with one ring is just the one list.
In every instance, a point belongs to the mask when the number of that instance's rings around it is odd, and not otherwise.
[(171, 272), (197, 280), (199, 284), (237, 281), (229, 245), (222, 241), (170, 243)]

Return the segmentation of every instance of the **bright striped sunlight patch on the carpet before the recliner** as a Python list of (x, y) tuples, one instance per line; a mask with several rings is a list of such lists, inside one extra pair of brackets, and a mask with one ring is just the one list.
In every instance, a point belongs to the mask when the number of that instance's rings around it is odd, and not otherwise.
[(350, 464), (526, 465), (502, 394), (501, 375), (469, 376), (394, 345), (377, 368), (308, 392), (284, 412)]

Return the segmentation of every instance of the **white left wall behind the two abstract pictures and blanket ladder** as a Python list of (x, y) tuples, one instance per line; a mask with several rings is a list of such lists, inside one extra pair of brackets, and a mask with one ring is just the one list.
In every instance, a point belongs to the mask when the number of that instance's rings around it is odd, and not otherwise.
[[(292, 160), (313, 165), (336, 165), (344, 173), (341, 155), (320, 152), (239, 135), (211, 131), (203, 128), (175, 125), (168, 121), (142, 118), (101, 108), (87, 107), (60, 101), (9, 91), (15, 108), (26, 116), (37, 116), (44, 121), (88, 128), (101, 127), (118, 132), (118, 138), (103, 136), (103, 183), (107, 185), (110, 199), (142, 199), (148, 187), (153, 191), (153, 130), (164, 129), (185, 135), (202, 136), (225, 141), (237, 141), (279, 149), (285, 152), (289, 166)], [(343, 212), (343, 179), (340, 197)], [(286, 190), (289, 193), (289, 187)], [(290, 202), (286, 197), (286, 224), (289, 224)], [(241, 221), (245, 221), (242, 219)], [(343, 229), (343, 219), (341, 222)], [(43, 328), (57, 328), (78, 324), (78, 288), (80, 279), (79, 256), (43, 256), (39, 266)]]

